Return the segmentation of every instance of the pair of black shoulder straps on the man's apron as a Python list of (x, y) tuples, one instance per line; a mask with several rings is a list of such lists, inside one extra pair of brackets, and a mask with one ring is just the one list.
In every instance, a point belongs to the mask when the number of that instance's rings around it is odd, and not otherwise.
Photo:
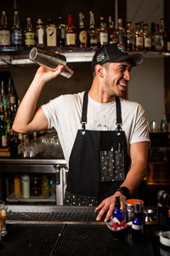
[[(87, 112), (88, 112), (88, 91), (85, 91), (82, 102), (82, 134), (85, 134), (87, 124)], [(117, 130), (122, 130), (122, 109), (119, 97), (116, 96), (116, 125)]]

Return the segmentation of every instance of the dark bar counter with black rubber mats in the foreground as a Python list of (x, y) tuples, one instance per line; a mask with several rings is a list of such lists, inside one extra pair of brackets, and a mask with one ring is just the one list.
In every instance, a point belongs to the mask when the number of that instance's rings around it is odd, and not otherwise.
[(159, 242), (156, 224), (145, 225), (143, 241), (134, 242), (131, 231), (113, 236), (104, 221), (95, 221), (96, 215), (94, 207), (8, 205), (0, 255), (170, 255)]

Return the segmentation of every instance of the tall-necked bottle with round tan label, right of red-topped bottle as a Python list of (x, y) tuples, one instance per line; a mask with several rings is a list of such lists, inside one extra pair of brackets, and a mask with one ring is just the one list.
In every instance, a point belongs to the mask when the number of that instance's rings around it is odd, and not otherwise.
[(77, 47), (87, 48), (88, 46), (88, 32), (84, 28), (84, 15), (82, 12), (78, 14), (79, 28), (77, 30)]

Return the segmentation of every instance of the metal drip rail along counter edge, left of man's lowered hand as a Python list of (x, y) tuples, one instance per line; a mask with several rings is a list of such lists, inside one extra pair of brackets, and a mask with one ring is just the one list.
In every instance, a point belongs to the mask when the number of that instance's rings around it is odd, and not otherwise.
[(96, 221), (94, 207), (49, 207), (8, 205), (7, 224), (105, 224)]

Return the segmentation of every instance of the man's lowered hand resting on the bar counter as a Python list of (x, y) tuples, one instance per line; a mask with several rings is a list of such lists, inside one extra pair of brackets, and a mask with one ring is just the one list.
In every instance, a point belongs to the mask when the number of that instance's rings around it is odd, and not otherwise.
[(127, 199), (125, 195), (122, 195), (120, 192), (116, 191), (114, 195), (111, 195), (110, 197), (105, 198), (104, 201), (102, 201), (98, 207), (96, 207), (96, 211), (99, 211), (99, 214), (96, 218), (97, 221), (100, 221), (102, 216), (107, 212), (105, 216), (105, 221), (112, 218), (112, 213), (115, 208), (115, 201), (116, 196), (120, 196), (120, 203), (121, 203), (121, 209), (124, 210), (124, 203)]

